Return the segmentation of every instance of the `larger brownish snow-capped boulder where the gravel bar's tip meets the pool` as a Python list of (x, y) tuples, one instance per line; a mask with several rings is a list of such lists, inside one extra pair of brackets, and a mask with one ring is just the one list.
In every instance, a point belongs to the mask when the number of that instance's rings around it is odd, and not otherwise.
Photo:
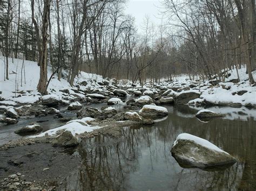
[(144, 105), (139, 115), (145, 118), (160, 118), (168, 115), (168, 110), (155, 104)]

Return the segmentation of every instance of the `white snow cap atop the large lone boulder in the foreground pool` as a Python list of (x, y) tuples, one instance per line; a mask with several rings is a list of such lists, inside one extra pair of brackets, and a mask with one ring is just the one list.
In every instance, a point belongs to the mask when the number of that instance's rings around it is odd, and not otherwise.
[(217, 151), (217, 152), (224, 152), (224, 153), (228, 154), (227, 152), (221, 150), (216, 145), (208, 142), (208, 140), (202, 139), (202, 138), (197, 137), (197, 136), (193, 136), (193, 135), (188, 134), (188, 133), (181, 133), (180, 135), (178, 135), (178, 137), (176, 138), (176, 140), (173, 143), (173, 146), (177, 144), (178, 140), (191, 140), (191, 141), (193, 141), (194, 143), (196, 143), (198, 145), (209, 148), (210, 150), (214, 150), (214, 151)]

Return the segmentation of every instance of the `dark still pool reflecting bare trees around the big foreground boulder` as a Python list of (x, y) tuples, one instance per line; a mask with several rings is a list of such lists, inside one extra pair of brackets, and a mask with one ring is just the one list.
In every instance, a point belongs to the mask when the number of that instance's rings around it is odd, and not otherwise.
[[(82, 164), (62, 188), (68, 190), (255, 190), (256, 110), (211, 108), (227, 114), (203, 123), (186, 105), (166, 107), (169, 116), (154, 126), (124, 128), (124, 137), (96, 137), (76, 152)], [(238, 114), (239, 112), (239, 114)], [(242, 115), (240, 115), (242, 114)], [(205, 138), (238, 159), (225, 170), (182, 168), (170, 149), (179, 133)]]

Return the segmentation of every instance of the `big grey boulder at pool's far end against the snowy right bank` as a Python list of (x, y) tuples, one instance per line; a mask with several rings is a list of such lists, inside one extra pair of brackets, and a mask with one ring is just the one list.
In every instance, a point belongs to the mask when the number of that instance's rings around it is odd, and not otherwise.
[(176, 104), (187, 104), (190, 100), (200, 97), (200, 93), (194, 90), (181, 91), (176, 95), (174, 102)]

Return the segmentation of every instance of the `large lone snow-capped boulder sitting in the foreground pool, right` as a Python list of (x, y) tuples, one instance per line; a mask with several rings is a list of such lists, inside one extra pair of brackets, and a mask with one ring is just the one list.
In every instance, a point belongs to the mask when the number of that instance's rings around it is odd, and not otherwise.
[(181, 133), (172, 145), (173, 157), (183, 167), (216, 167), (234, 164), (237, 160), (219, 147), (202, 139)]

